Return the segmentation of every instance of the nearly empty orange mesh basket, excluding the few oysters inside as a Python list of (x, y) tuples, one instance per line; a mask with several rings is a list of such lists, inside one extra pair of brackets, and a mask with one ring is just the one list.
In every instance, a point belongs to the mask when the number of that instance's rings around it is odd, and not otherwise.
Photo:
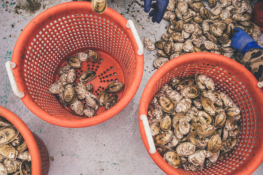
[[(66, 65), (67, 57), (87, 49), (96, 50), (100, 60), (82, 62), (77, 76), (85, 70), (96, 72), (88, 82), (95, 95), (110, 82), (124, 83), (117, 104), (107, 111), (100, 107), (92, 118), (75, 115), (48, 90), (58, 80), (57, 70)], [(143, 45), (134, 24), (113, 9), (96, 14), (91, 2), (68, 2), (45, 10), (25, 27), (12, 62), (18, 90), (24, 92), (21, 100), (29, 110), (51, 124), (80, 128), (108, 120), (134, 97), (143, 75)]]

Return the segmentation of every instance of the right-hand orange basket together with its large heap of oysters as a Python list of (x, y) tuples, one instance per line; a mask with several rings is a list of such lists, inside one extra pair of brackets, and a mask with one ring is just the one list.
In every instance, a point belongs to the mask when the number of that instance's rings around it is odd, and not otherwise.
[(142, 94), (144, 145), (167, 174), (251, 174), (262, 162), (262, 94), (232, 59), (179, 56), (154, 73)]

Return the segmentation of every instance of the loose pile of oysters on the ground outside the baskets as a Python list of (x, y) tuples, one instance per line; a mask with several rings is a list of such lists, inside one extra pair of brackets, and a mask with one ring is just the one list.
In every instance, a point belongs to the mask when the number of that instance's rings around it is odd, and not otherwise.
[(233, 29), (244, 29), (259, 45), (259, 26), (251, 22), (253, 7), (248, 0), (208, 0), (208, 6), (199, 0), (170, 0), (164, 19), (171, 22), (168, 32), (153, 43), (147, 37), (145, 48), (154, 50), (159, 57), (154, 67), (189, 52), (213, 52), (241, 63), (243, 55), (231, 46)]

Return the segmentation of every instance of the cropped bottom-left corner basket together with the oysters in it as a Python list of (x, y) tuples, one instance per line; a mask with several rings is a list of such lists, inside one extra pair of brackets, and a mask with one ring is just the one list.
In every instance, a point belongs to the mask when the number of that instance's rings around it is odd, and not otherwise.
[(47, 149), (14, 113), (0, 106), (0, 174), (47, 175)]

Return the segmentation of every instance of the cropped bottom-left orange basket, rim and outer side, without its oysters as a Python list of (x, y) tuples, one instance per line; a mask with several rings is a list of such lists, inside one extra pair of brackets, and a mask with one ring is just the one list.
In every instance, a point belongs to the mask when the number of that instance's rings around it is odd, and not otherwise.
[(29, 130), (27, 125), (14, 113), (0, 106), (0, 116), (11, 122), (27, 143), (31, 156), (32, 174), (47, 175), (49, 169), (48, 151), (42, 140)]

